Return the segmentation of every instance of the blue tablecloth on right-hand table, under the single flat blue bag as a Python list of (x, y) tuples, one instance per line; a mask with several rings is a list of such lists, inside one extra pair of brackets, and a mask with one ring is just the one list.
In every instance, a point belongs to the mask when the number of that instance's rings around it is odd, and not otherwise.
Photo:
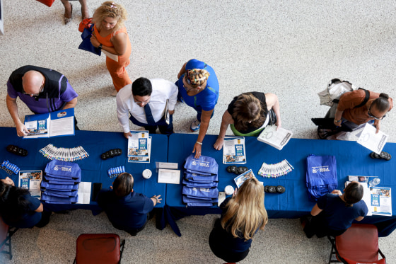
[[(233, 179), (235, 174), (228, 173), (223, 164), (223, 150), (216, 151), (213, 144), (216, 136), (206, 135), (202, 144), (202, 154), (211, 156), (219, 163), (219, 191), (223, 191), (226, 185), (236, 187)], [(195, 134), (172, 134), (169, 137), (168, 162), (182, 163), (191, 154), (197, 135)], [(392, 176), (396, 171), (396, 159), (390, 161), (371, 159), (368, 149), (361, 147), (356, 142), (317, 140), (317, 139), (291, 139), (281, 151), (267, 144), (258, 142), (256, 137), (245, 137), (247, 163), (258, 180), (264, 185), (282, 185), (286, 188), (283, 194), (266, 193), (264, 205), (270, 218), (297, 218), (309, 214), (315, 202), (308, 200), (308, 190), (305, 185), (306, 157), (309, 154), (334, 155), (337, 159), (337, 176), (339, 190), (344, 190), (344, 183), (349, 175), (354, 176), (377, 176), (380, 178), (380, 186), (392, 187), (396, 190), (396, 178)], [(385, 144), (384, 151), (390, 154), (396, 153), (396, 144)], [(262, 178), (258, 171), (262, 163), (278, 163), (286, 159), (294, 167), (294, 170), (286, 176), (279, 178)], [(183, 172), (183, 170), (182, 170)], [(182, 174), (182, 173), (181, 173)], [(181, 175), (182, 177), (182, 175)], [(166, 190), (165, 208), (168, 220), (176, 220), (188, 214), (218, 214), (219, 207), (186, 207), (182, 204), (182, 185), (168, 184)], [(363, 219), (363, 222), (373, 223), (378, 226), (380, 236), (387, 236), (396, 228), (396, 195), (392, 195), (392, 217), (372, 216)], [(175, 223), (173, 228), (177, 229)], [(177, 231), (177, 230), (176, 230)]]

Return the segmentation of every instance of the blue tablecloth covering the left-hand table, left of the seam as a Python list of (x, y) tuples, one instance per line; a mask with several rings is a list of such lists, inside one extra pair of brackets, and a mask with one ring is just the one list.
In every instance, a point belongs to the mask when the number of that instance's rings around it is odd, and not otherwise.
[[(21, 171), (45, 170), (45, 166), (50, 161), (46, 159), (39, 150), (53, 144), (55, 147), (78, 147), (82, 146), (89, 154), (89, 157), (76, 161), (81, 168), (81, 181), (91, 183), (102, 183), (102, 188), (109, 188), (114, 178), (107, 176), (107, 169), (117, 166), (125, 166), (125, 171), (134, 176), (134, 191), (144, 193), (151, 197), (161, 195), (162, 203), (156, 207), (165, 205), (166, 185), (157, 183), (156, 163), (155, 161), (167, 161), (166, 149), (168, 149), (168, 137), (163, 134), (152, 134), (151, 163), (128, 163), (127, 162), (127, 139), (120, 132), (95, 132), (95, 131), (76, 131), (75, 136), (51, 137), (46, 139), (23, 139), (17, 137), (16, 129), (13, 127), (0, 127), (0, 162), (9, 160), (16, 164)], [(22, 147), (28, 150), (28, 156), (21, 157), (6, 151), (9, 144)], [(110, 149), (122, 149), (122, 154), (114, 158), (103, 161), (100, 154)], [(158, 151), (161, 150), (161, 151)], [(146, 180), (141, 175), (144, 169), (149, 168), (153, 176)], [(0, 178), (9, 176), (6, 171), (0, 169)], [(17, 184), (18, 176), (11, 175), (10, 178)], [(53, 211), (71, 210), (71, 209), (88, 209), (98, 210), (98, 204), (92, 202), (89, 205), (47, 205), (45, 207)]]

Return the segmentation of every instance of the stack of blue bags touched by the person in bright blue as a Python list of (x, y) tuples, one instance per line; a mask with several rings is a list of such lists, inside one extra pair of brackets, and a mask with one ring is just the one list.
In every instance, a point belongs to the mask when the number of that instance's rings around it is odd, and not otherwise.
[(219, 198), (217, 176), (219, 165), (209, 156), (195, 159), (193, 154), (185, 161), (185, 176), (182, 180), (182, 201), (187, 206), (213, 206)]

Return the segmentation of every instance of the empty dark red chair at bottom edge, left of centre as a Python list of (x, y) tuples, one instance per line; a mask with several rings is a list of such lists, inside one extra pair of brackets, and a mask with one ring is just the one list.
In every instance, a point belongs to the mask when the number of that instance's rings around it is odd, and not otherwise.
[(76, 264), (120, 263), (125, 240), (117, 234), (81, 234), (77, 238)]

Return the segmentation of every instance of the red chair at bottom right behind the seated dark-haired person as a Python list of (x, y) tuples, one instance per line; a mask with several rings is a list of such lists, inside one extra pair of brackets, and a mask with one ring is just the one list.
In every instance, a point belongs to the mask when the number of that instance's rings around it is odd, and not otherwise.
[[(329, 263), (385, 264), (385, 256), (378, 247), (378, 230), (373, 224), (352, 224), (341, 236), (327, 236), (332, 243)], [(378, 253), (382, 259), (378, 260)], [(337, 260), (332, 260), (333, 256)]]

